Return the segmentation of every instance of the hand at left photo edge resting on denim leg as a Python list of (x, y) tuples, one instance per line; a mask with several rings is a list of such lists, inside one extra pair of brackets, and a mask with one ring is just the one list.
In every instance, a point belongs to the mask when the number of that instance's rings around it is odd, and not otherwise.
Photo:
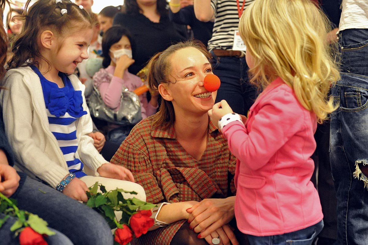
[(0, 164), (0, 177), (0, 192), (6, 197), (10, 197), (17, 190), (19, 180), (21, 178), (19, 177), (17, 170), (8, 164)]

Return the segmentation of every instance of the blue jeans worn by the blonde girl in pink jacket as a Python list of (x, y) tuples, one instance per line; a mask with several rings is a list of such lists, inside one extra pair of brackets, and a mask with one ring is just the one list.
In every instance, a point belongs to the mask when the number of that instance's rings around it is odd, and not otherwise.
[(265, 237), (248, 235), (248, 239), (251, 245), (311, 245), (322, 228), (323, 220), (302, 230)]

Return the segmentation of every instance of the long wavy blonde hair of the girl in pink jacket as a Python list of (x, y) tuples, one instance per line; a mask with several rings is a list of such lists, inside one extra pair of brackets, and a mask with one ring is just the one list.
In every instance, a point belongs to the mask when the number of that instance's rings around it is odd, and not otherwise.
[(253, 57), (250, 81), (264, 89), (280, 77), (319, 123), (336, 109), (330, 87), (340, 79), (326, 40), (330, 24), (311, 0), (256, 0), (239, 32)]

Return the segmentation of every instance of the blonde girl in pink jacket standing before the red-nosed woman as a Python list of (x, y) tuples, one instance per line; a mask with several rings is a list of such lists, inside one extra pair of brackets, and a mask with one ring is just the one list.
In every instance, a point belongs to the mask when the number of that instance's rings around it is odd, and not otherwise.
[(310, 181), (314, 132), (335, 109), (328, 91), (339, 79), (328, 22), (310, 0), (256, 0), (239, 31), (251, 82), (263, 92), (245, 125), (226, 101), (209, 111), (238, 159), (237, 225), (252, 245), (310, 245), (323, 227)]

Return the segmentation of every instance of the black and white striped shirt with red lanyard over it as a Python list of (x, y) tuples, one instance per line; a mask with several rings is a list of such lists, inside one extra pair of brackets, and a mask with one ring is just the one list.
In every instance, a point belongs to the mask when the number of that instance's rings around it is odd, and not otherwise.
[[(244, 9), (254, 0), (239, 0), (240, 8), (245, 1)], [(239, 26), (239, 15), (236, 0), (211, 0), (215, 13), (212, 37), (208, 41), (208, 49), (231, 50), (234, 42), (234, 32)]]

